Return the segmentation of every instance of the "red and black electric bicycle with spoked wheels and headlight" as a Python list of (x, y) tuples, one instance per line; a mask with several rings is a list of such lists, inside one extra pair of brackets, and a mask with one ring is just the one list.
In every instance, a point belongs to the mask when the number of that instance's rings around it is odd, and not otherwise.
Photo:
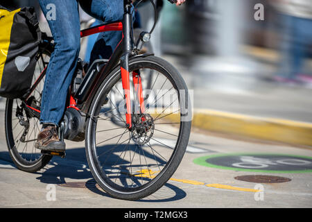
[[(155, 10), (155, 4), (150, 2)], [(123, 38), (110, 60), (95, 60), (85, 75), (78, 60), (58, 134), (62, 140), (85, 140), (89, 169), (107, 194), (137, 200), (162, 187), (179, 166), (189, 142), (191, 119), (184, 117), (191, 113), (191, 107), (187, 85), (179, 72), (153, 53), (138, 53), (137, 46), (148, 41), (155, 24), (150, 32), (142, 32), (134, 44), (130, 8), (131, 1), (124, 0), (123, 21), (80, 32), (80, 37), (85, 37), (102, 31), (122, 31)], [(22, 171), (39, 171), (53, 155), (65, 155), (34, 148), (40, 130), (42, 85), (53, 47), (53, 38), (43, 33), (31, 89), (20, 99), (6, 101), (8, 151)], [(153, 85), (144, 89), (150, 70), (154, 72)], [(116, 90), (123, 98), (121, 105), (111, 103), (111, 92)], [(154, 97), (153, 92), (157, 92)], [(164, 100), (168, 92), (172, 98), (169, 105)], [(113, 109), (119, 110), (122, 126), (105, 115)], [(159, 112), (155, 112), (157, 109)], [(165, 117), (171, 120), (164, 120)], [(166, 144), (168, 137), (174, 146)]]

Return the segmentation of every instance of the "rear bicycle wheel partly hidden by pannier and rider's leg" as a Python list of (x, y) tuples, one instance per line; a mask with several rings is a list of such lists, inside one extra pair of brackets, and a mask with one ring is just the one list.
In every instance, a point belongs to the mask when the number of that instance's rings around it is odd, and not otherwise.
[[(27, 99), (32, 108), (40, 110), (41, 95), (44, 86), (45, 67), (49, 63), (50, 54), (42, 53), (38, 57), (33, 75), (33, 83), (37, 87)], [(18, 169), (27, 172), (37, 172), (50, 160), (50, 155), (42, 155), (35, 148), (37, 133), (40, 132), (40, 120), (26, 109), (21, 99), (7, 99), (5, 113), (5, 130), (8, 151)]]

